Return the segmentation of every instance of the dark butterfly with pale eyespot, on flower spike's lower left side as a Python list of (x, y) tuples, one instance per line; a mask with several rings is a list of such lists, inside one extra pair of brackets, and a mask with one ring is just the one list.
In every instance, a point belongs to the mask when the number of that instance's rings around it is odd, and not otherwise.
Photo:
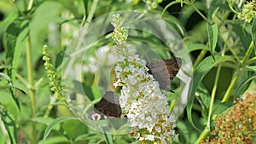
[(91, 120), (120, 118), (121, 114), (118, 96), (113, 91), (107, 91), (101, 101), (94, 105), (94, 112), (90, 112), (89, 118)]

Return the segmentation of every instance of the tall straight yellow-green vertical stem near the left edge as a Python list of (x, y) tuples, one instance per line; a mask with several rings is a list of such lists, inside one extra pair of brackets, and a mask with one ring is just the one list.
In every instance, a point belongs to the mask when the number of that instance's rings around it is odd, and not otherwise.
[[(34, 79), (33, 79), (33, 68), (32, 68), (32, 47), (31, 47), (31, 37), (30, 34), (27, 37), (27, 45), (26, 45), (26, 66), (27, 66), (27, 78), (28, 78), (28, 95), (31, 101), (32, 107), (32, 118), (36, 117), (36, 101), (35, 101), (35, 93), (34, 93)], [(36, 131), (36, 123), (32, 122), (32, 144), (38, 143), (37, 141), (37, 131)]]

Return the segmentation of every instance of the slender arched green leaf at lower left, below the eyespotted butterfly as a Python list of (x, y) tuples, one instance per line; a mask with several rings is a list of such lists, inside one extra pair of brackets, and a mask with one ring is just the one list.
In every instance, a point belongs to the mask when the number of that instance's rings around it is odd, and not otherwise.
[(49, 135), (49, 132), (54, 129), (56, 124), (60, 124), (61, 122), (67, 121), (67, 120), (78, 120), (79, 118), (74, 118), (74, 117), (61, 117), (61, 118), (56, 118), (49, 126), (46, 128), (44, 131), (44, 140), (46, 140), (47, 136)]

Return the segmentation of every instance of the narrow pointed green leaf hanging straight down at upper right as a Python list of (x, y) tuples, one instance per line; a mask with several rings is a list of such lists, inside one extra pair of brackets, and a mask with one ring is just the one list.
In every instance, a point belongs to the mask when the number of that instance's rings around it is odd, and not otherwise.
[(207, 23), (207, 32), (208, 32), (208, 41), (209, 47), (212, 54), (212, 58), (214, 59), (214, 52), (217, 45), (218, 40), (218, 26), (216, 23), (209, 24)]

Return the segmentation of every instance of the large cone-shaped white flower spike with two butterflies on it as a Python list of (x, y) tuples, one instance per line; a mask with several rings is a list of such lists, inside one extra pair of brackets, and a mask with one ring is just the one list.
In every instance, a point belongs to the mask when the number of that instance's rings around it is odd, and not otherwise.
[(159, 83), (148, 74), (146, 61), (136, 55), (136, 49), (126, 44), (127, 35), (119, 20), (113, 15), (113, 40), (119, 54), (114, 68), (120, 86), (119, 96), (122, 114), (126, 115), (132, 129), (131, 136), (140, 143), (172, 143), (175, 134), (175, 118), (168, 110), (166, 96)]

